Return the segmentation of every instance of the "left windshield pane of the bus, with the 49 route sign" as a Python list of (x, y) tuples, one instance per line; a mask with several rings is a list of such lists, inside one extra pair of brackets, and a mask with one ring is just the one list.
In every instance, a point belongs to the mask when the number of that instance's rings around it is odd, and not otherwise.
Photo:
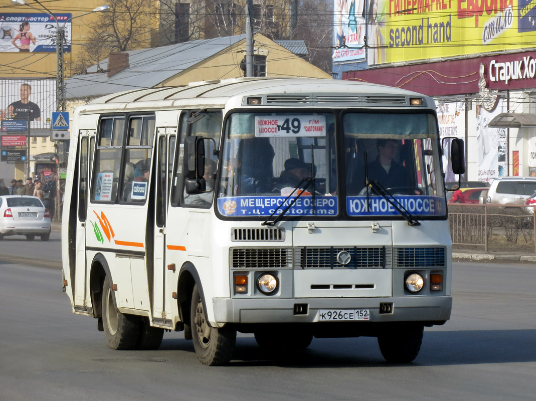
[(230, 115), (222, 157), (220, 213), (270, 216), (281, 213), (301, 193), (285, 216), (338, 214), (333, 127), (330, 113)]

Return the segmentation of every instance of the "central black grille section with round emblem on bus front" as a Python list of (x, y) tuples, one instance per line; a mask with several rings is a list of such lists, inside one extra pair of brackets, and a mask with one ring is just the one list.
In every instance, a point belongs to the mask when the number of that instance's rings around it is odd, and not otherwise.
[[(347, 264), (341, 263), (349, 255)], [(342, 255), (341, 255), (342, 256)], [(391, 265), (390, 248), (385, 247), (301, 247), (294, 249), (295, 269), (383, 269)]]

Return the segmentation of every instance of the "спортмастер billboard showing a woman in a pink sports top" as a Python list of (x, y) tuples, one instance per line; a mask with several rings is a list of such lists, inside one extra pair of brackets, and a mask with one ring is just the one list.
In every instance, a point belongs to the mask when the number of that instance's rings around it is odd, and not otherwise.
[(56, 20), (40, 13), (0, 13), (0, 52), (56, 52), (57, 26), (65, 26), (63, 51), (71, 51), (71, 14)]

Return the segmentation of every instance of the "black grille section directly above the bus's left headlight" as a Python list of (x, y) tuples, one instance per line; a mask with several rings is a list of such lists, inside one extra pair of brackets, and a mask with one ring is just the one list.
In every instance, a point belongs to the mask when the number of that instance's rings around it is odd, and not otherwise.
[(292, 248), (231, 248), (232, 269), (292, 269)]

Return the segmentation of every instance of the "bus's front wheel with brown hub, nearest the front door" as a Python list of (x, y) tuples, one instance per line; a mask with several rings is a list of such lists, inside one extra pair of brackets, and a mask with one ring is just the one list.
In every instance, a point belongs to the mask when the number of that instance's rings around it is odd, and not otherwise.
[(197, 284), (193, 287), (190, 309), (193, 348), (203, 365), (225, 365), (233, 356), (236, 344), (236, 330), (228, 326), (212, 328), (206, 321), (203, 300)]

